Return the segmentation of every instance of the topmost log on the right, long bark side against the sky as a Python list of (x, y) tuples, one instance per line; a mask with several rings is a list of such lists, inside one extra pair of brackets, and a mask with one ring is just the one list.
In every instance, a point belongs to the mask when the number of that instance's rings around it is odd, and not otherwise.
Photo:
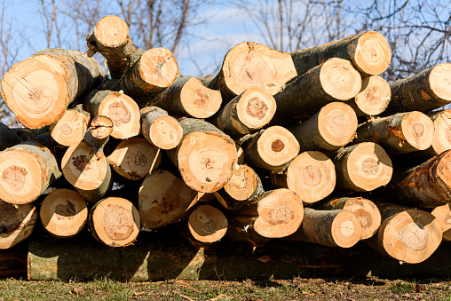
[(304, 75), (309, 69), (320, 65), (330, 58), (341, 58), (352, 61), (362, 75), (380, 75), (390, 65), (392, 51), (383, 35), (376, 31), (368, 31), (357, 36), (346, 37), (291, 52), (297, 75)]

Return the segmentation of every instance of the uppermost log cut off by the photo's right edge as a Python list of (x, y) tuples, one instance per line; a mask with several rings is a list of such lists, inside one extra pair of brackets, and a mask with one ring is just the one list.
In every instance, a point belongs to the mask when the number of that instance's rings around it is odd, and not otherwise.
[(451, 64), (439, 64), (398, 81), (390, 82), (392, 100), (384, 115), (433, 109), (451, 103)]

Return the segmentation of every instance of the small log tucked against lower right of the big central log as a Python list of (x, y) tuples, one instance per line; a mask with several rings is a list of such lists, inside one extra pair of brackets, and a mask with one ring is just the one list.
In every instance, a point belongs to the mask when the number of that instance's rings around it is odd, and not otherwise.
[(224, 208), (237, 210), (255, 202), (264, 192), (257, 173), (248, 165), (239, 165), (229, 182), (213, 194)]

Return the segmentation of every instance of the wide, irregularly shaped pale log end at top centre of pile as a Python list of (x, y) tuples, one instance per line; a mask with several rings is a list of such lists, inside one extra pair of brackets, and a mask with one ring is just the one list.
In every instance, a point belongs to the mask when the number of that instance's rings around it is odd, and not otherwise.
[(289, 53), (263, 44), (242, 42), (227, 52), (209, 88), (221, 91), (227, 100), (250, 87), (262, 88), (274, 95), (296, 75)]

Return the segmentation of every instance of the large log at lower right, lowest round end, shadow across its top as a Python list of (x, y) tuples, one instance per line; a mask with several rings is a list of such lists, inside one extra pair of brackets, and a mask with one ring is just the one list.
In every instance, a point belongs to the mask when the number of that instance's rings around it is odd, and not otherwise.
[(382, 223), (377, 234), (365, 241), (370, 247), (407, 264), (423, 262), (437, 250), (442, 230), (431, 213), (395, 204), (376, 204)]

